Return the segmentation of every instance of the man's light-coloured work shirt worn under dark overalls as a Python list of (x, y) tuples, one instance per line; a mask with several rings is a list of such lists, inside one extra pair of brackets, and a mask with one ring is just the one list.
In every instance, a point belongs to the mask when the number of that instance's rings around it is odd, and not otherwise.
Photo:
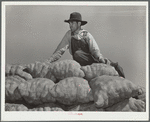
[(93, 36), (88, 31), (82, 29), (76, 34), (72, 34), (71, 31), (69, 30), (63, 37), (62, 41), (58, 45), (55, 52), (60, 50), (61, 48), (65, 47), (66, 45), (69, 45), (69, 52), (71, 55), (73, 55), (72, 49), (71, 49), (71, 38), (72, 37), (76, 38), (77, 40), (85, 39), (88, 44), (88, 47), (89, 47), (89, 53), (91, 53), (91, 55), (93, 55), (93, 53), (95, 51), (100, 51)]

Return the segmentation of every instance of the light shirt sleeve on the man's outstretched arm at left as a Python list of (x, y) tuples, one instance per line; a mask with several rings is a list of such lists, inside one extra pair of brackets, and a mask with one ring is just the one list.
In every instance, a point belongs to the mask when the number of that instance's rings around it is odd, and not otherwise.
[[(69, 45), (69, 39), (71, 38), (71, 32), (70, 30), (65, 34), (65, 36), (63, 37), (63, 39), (61, 40), (61, 42), (59, 43), (59, 45), (57, 46), (56, 50), (54, 51), (54, 53), (56, 53), (57, 51), (59, 51), (60, 49), (62, 49), (63, 47), (65, 47), (66, 45)], [(53, 54), (54, 54), (53, 53)]]

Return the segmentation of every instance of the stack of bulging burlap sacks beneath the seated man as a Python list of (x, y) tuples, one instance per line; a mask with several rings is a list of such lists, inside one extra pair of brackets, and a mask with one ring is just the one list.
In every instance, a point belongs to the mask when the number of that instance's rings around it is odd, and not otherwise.
[(6, 111), (145, 111), (145, 88), (102, 63), (74, 60), (5, 68)]

